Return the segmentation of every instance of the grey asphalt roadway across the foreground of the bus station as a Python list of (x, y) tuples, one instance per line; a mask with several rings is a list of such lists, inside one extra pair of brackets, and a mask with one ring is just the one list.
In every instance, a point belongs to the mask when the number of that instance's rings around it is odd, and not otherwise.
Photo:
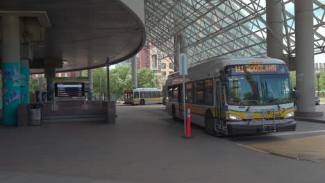
[[(0, 128), (0, 182), (324, 182), (325, 164), (244, 146), (320, 133), (217, 138), (183, 123), (163, 105), (118, 106), (115, 125), (50, 123)], [(325, 130), (299, 122), (299, 132)], [(238, 143), (244, 146), (238, 146)]]

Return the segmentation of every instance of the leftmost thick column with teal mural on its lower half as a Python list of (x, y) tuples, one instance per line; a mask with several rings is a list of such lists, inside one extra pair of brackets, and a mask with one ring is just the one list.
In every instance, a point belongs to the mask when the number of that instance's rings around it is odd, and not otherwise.
[(3, 16), (1, 19), (3, 125), (17, 125), (17, 108), (20, 103), (19, 17)]

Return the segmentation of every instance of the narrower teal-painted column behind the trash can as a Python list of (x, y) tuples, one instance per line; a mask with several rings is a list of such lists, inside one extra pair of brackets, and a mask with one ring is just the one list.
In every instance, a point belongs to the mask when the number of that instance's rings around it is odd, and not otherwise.
[(20, 60), (21, 97), (22, 103), (29, 103), (29, 59), (31, 59), (31, 46), (22, 45)]

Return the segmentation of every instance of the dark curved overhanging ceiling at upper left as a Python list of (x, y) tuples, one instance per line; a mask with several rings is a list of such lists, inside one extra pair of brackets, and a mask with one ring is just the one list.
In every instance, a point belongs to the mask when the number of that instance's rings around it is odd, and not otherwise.
[(119, 0), (3, 0), (0, 7), (1, 11), (47, 13), (51, 27), (33, 37), (33, 60), (63, 60), (63, 68), (56, 71), (101, 67), (107, 56), (115, 64), (144, 45), (144, 22), (132, 11), (136, 7)]

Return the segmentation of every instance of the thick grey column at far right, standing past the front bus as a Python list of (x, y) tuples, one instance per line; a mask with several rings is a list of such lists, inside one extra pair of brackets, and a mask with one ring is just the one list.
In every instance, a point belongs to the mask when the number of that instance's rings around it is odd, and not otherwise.
[(315, 112), (313, 0), (294, 1), (296, 29), (297, 89), (300, 98), (296, 116), (322, 116)]

